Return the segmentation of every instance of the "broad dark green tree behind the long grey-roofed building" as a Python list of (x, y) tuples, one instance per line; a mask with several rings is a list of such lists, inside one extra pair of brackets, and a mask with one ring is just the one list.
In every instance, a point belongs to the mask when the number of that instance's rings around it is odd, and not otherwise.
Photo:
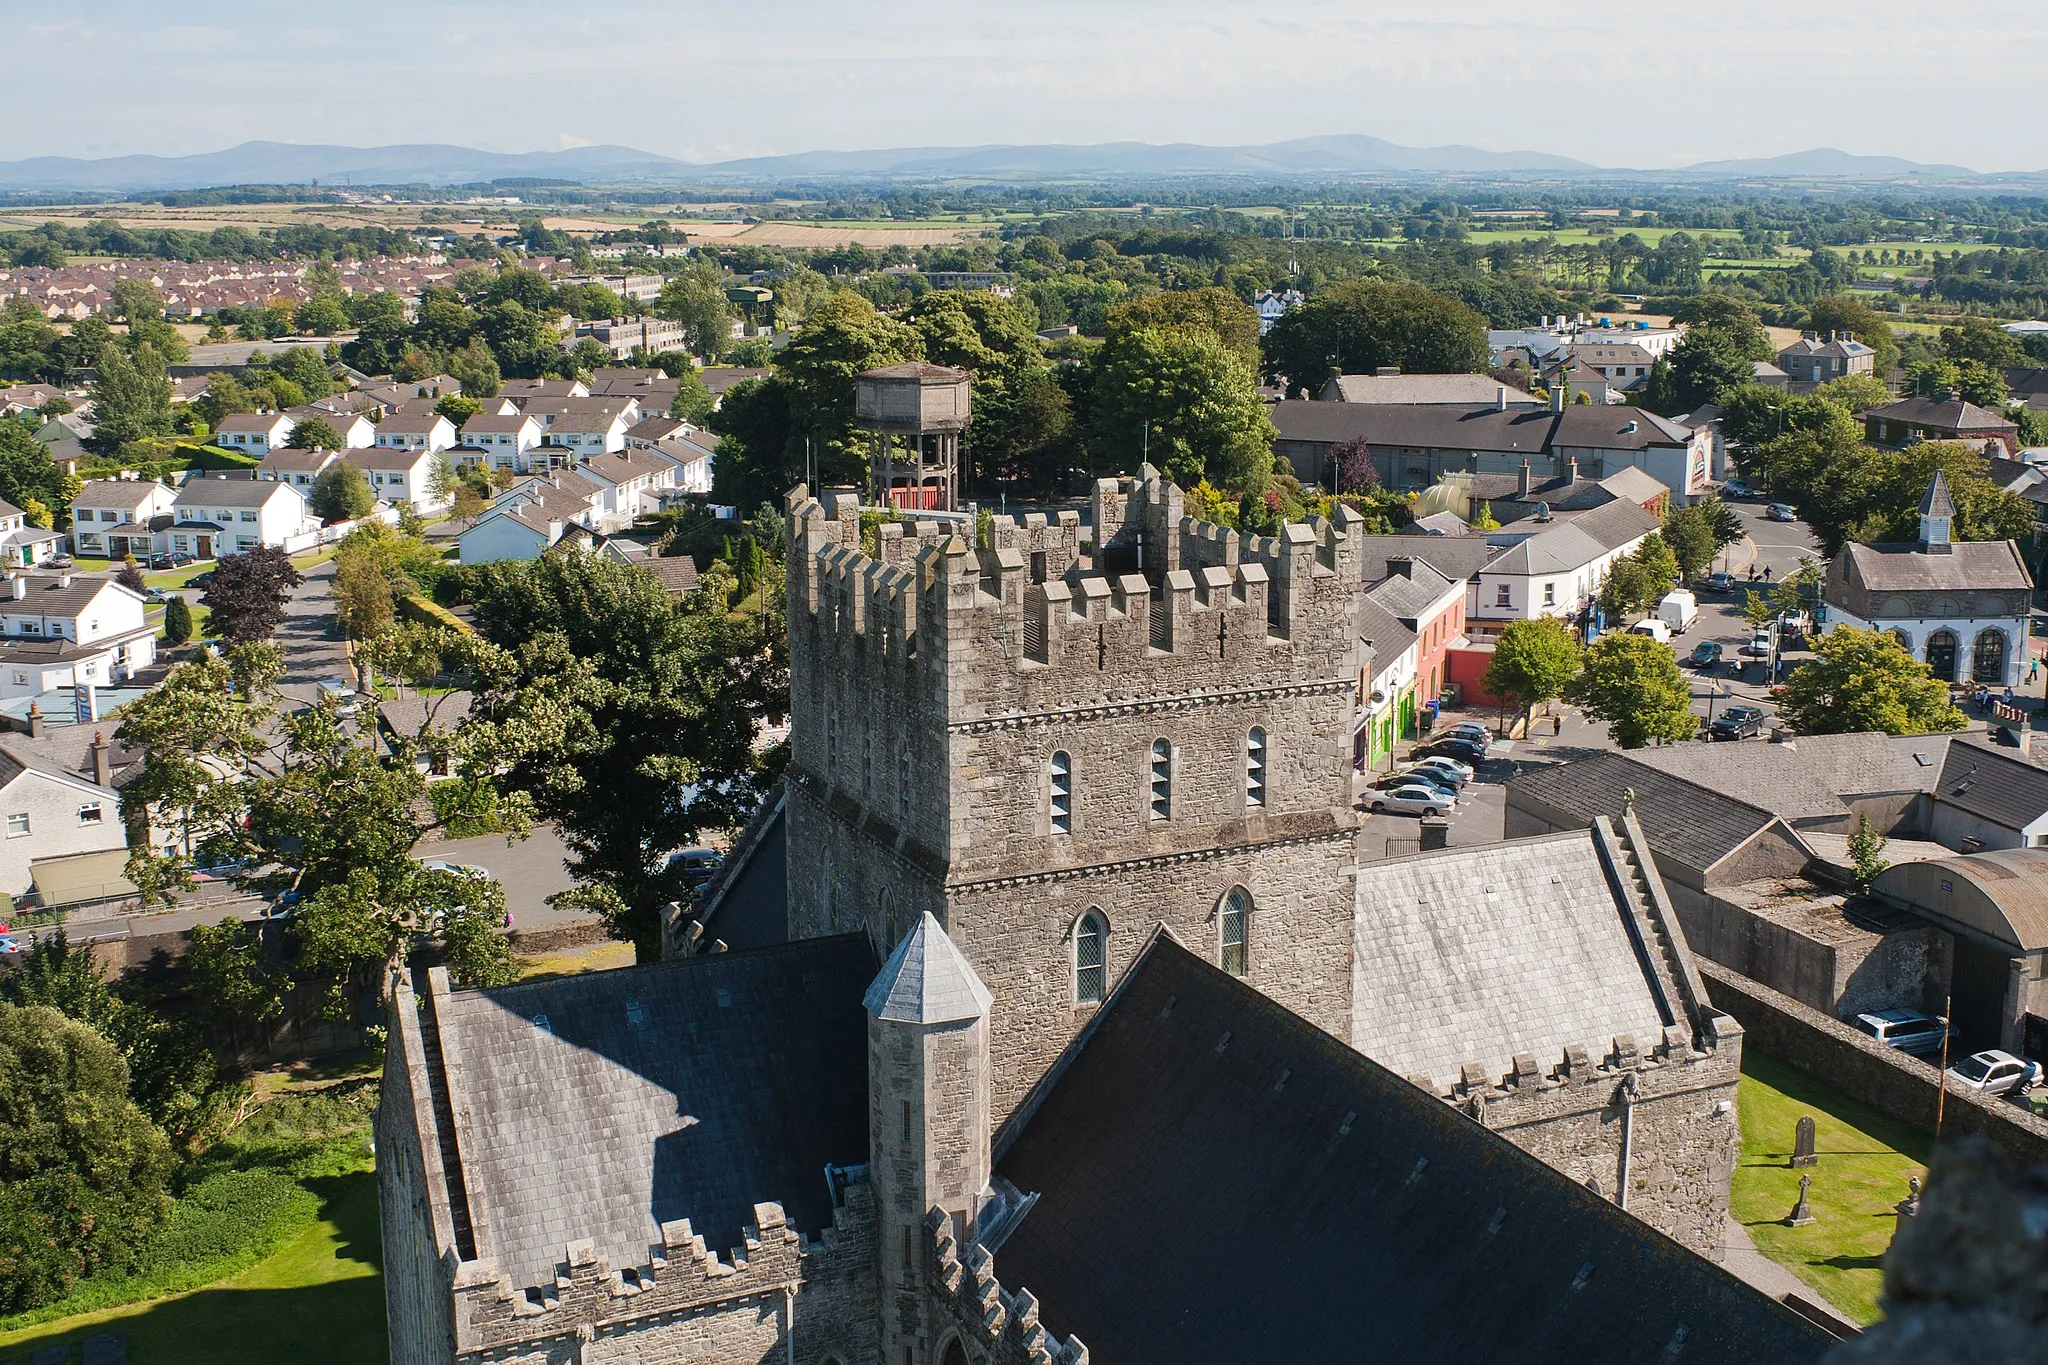
[(1262, 344), (1266, 377), (1288, 397), (1319, 393), (1331, 375), (1401, 366), (1409, 375), (1487, 368), (1487, 319), (1421, 284), (1348, 280), (1286, 313)]

